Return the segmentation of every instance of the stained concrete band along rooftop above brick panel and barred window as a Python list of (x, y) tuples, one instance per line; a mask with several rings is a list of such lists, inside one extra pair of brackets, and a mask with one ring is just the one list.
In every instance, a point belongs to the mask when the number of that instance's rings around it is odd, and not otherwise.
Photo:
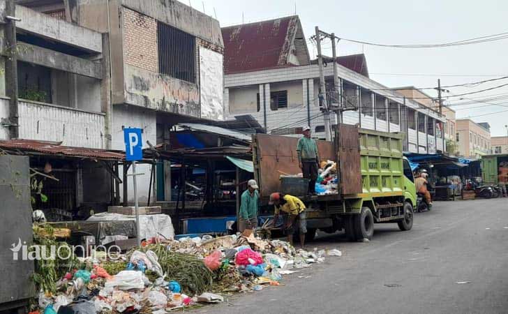
[(218, 20), (175, 0), (121, 0), (122, 5), (224, 47)]

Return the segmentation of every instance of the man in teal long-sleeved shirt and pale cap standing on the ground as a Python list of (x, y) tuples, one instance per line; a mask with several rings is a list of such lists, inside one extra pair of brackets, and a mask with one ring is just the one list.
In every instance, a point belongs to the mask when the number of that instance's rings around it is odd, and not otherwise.
[(239, 232), (257, 227), (257, 202), (260, 199), (257, 189), (257, 182), (251, 179), (247, 182), (247, 189), (241, 194)]

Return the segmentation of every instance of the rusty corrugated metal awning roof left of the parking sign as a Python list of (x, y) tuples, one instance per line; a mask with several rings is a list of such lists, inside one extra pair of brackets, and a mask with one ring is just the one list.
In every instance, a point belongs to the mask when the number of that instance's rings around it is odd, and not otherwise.
[(0, 141), (0, 148), (12, 151), (38, 152), (46, 155), (67, 156), (73, 158), (124, 160), (125, 153), (122, 151), (107, 151), (105, 149), (91, 149), (85, 147), (62, 146), (56, 142), (37, 140), (4, 140)]

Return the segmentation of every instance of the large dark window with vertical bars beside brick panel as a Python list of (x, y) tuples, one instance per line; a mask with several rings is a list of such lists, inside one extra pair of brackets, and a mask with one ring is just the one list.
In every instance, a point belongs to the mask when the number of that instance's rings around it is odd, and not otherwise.
[(157, 23), (159, 72), (195, 83), (194, 36), (164, 23)]

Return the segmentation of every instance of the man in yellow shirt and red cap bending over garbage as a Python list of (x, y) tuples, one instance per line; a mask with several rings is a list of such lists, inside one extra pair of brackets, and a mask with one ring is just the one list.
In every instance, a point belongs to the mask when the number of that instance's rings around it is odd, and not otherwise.
[(285, 234), (290, 244), (293, 244), (293, 234), (296, 230), (299, 231), (300, 244), (304, 247), (305, 234), (307, 233), (307, 216), (306, 207), (304, 202), (298, 197), (292, 195), (283, 195), (282, 193), (271, 193), (268, 204), (273, 204), (275, 207), (274, 221), (277, 221), (278, 215), (283, 211), (287, 214), (287, 220), (284, 225)]

